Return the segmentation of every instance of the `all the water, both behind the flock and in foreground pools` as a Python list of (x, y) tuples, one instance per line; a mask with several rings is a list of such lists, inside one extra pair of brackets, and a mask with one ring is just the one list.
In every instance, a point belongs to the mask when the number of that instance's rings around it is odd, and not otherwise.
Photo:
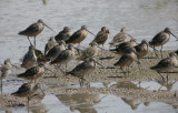
[[(63, 27), (68, 25), (75, 32), (82, 24), (86, 24), (95, 34), (101, 27), (110, 30), (110, 38), (105, 48), (108, 49), (109, 41), (122, 27), (140, 42), (142, 39), (151, 40), (152, 37), (166, 27), (170, 27), (172, 33), (178, 35), (178, 0), (1, 0), (0, 1), (0, 62), (10, 58), (13, 63), (20, 63), (19, 59), (27, 52), (29, 42), (26, 37), (18, 35), (18, 32), (26, 29), (38, 19), (51, 27), (55, 32), (44, 28), (37, 37), (37, 49), (43, 51), (43, 47), (51, 35), (56, 35)], [(81, 43), (82, 47), (93, 39), (88, 34)], [(32, 39), (31, 39), (32, 40)], [(176, 50), (177, 43), (171, 37), (164, 45), (165, 50)], [(142, 81), (140, 88), (137, 81), (127, 84), (134, 89), (147, 89), (150, 91), (169, 90), (176, 91), (178, 82), (170, 81), (169, 85), (158, 81)], [(16, 91), (22, 81), (4, 82), (4, 94)], [(16, 88), (12, 88), (16, 85)], [(71, 84), (67, 84), (71, 85)], [(79, 84), (72, 84), (79, 88)], [(116, 89), (118, 82), (101, 83), (93, 82), (91, 88)], [(113, 86), (113, 88), (112, 88)], [(120, 85), (119, 85), (120, 86)], [(123, 85), (125, 86), (125, 85)], [(6, 90), (8, 89), (8, 90)], [(83, 97), (77, 100), (76, 97)], [(134, 105), (135, 103), (135, 105)], [(12, 113), (27, 112), (26, 106), (9, 107)], [(0, 110), (4, 113), (6, 110)], [(116, 95), (52, 95), (44, 96), (40, 105), (30, 106), (31, 113), (39, 111), (48, 113), (177, 113), (177, 106), (161, 102), (140, 102), (139, 100), (123, 99)], [(42, 113), (42, 112), (41, 112)]]

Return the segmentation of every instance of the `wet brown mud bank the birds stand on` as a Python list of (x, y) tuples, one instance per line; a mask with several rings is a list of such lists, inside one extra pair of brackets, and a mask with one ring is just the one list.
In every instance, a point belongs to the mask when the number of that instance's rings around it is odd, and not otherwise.
[[(168, 53), (172, 51), (164, 51), (164, 58), (168, 56)], [(52, 71), (56, 71), (58, 78), (50, 78), (53, 76), (53, 73), (46, 72), (43, 76), (38, 79), (37, 81), (43, 84), (43, 90), (46, 94), (75, 94), (75, 93), (100, 93), (100, 94), (113, 94), (121, 97), (130, 97), (135, 100), (140, 100), (144, 102), (164, 102), (169, 103), (175, 106), (177, 106), (178, 102), (178, 95), (175, 96), (175, 92), (172, 91), (149, 91), (147, 89), (142, 89), (139, 86), (131, 88), (131, 86), (107, 86), (105, 84), (110, 82), (123, 82), (123, 81), (156, 81), (161, 80), (161, 78), (155, 72), (151, 71), (149, 68), (151, 65), (155, 65), (157, 62), (159, 62), (160, 59), (150, 59), (154, 56), (154, 52), (149, 52), (149, 54), (141, 59), (141, 64), (138, 65), (136, 62), (130, 66), (129, 70), (129, 76), (125, 78), (123, 73), (118, 68), (113, 68), (113, 63), (119, 59), (117, 54), (113, 54), (107, 50), (102, 51), (103, 54), (99, 53), (100, 55), (97, 56), (97, 61), (101, 63), (106, 69), (97, 68), (95, 72), (92, 72), (90, 75), (86, 76), (86, 80), (88, 82), (101, 82), (103, 83), (103, 88), (95, 88), (95, 86), (75, 86), (75, 84), (78, 84), (78, 79), (73, 76), (65, 76), (59, 70), (53, 69), (53, 66), (48, 65), (48, 68)], [(100, 60), (99, 60), (100, 59)], [(80, 61), (73, 61), (71, 62), (68, 70), (71, 70), (76, 64), (78, 64)], [(140, 70), (139, 71), (139, 68)], [(17, 79), (16, 73), (22, 72), (23, 70), (16, 70), (12, 72), (12, 75), (7, 78), (7, 80), (3, 81), (6, 83), (9, 81), (9, 83), (14, 83), (20, 81), (26, 82), (22, 79)], [(175, 71), (178, 71), (177, 69)], [(166, 75), (166, 74), (164, 74)], [(169, 81), (178, 80), (177, 73), (169, 74)], [(6, 85), (6, 84), (4, 84)], [(17, 86), (17, 85), (14, 85)], [(7, 90), (7, 89), (3, 89)], [(177, 93), (176, 93), (177, 94)], [(40, 97), (41, 96), (41, 97)], [(32, 104), (39, 104), (42, 100), (42, 95), (38, 95), (36, 100), (30, 101), (30, 105)], [(26, 105), (27, 100), (14, 97), (9, 94), (0, 94), (0, 109), (4, 107), (14, 107), (18, 105)]]

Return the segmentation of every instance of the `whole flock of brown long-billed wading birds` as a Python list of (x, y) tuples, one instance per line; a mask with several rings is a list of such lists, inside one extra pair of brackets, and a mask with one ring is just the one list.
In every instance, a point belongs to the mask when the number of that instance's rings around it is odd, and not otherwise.
[[(36, 83), (36, 79), (40, 78), (46, 70), (49, 70), (44, 66), (47, 62), (49, 64), (55, 65), (65, 75), (73, 75), (79, 78), (79, 83), (82, 86), (85, 81), (85, 75), (91, 73), (97, 64), (102, 66), (95, 60), (95, 56), (98, 55), (99, 45), (105, 44), (107, 39), (109, 38), (109, 30), (107, 27), (102, 27), (101, 31), (95, 35), (90, 32), (86, 25), (82, 25), (75, 33), (71, 32), (69, 27), (65, 27), (62, 31), (60, 31), (56, 37), (51, 37), (46, 47), (44, 53), (40, 50), (36, 49), (36, 37), (42, 32), (44, 25), (49, 28), (41, 19), (38, 22), (29, 25), (26, 30), (20, 31), (20, 35), (26, 35), (30, 42), (29, 51), (24, 54), (21, 68), (27, 69), (26, 72), (18, 74), (18, 78), (22, 78), (26, 80), (30, 80), (29, 83), (22, 84), (19, 90), (11, 95), (27, 97), (28, 103), (32, 97), (32, 94), (41, 89), (40, 83)], [(52, 30), (51, 28), (49, 28)], [(53, 31), (53, 30), (52, 30)], [(89, 43), (89, 48), (86, 50), (80, 50), (79, 48), (75, 48), (73, 44), (79, 44), (87, 38), (87, 34), (91, 33), (95, 35), (95, 39)], [(166, 44), (170, 39), (171, 31), (169, 28), (166, 28), (164, 31), (159, 32), (154, 37), (151, 41), (142, 40), (140, 44), (137, 44), (136, 39), (134, 39), (130, 34), (127, 33), (126, 28), (122, 28), (119, 33), (117, 33), (112, 41), (109, 43), (110, 45), (116, 47), (116, 49), (110, 49), (111, 52), (120, 54), (121, 58), (113, 65), (119, 66), (122, 71), (123, 68), (128, 68), (132, 62), (137, 62), (139, 64), (139, 60), (144, 58), (149, 50), (149, 47), (154, 49), (156, 58), (158, 58), (156, 47), (161, 47), (160, 53), (162, 51), (162, 45)], [(177, 40), (178, 38), (172, 34)], [(30, 37), (34, 38), (33, 44), (30, 41)], [(130, 41), (127, 41), (128, 38), (131, 38)], [(102, 49), (102, 48), (100, 48)], [(102, 50), (101, 50), (102, 51)], [(78, 56), (77, 56), (78, 54)], [(164, 81), (165, 78), (161, 75), (161, 72), (169, 72), (170, 70), (177, 66), (176, 55), (178, 51), (169, 53), (169, 56), (166, 59), (161, 59), (157, 65), (151, 66), (151, 70), (155, 70), (159, 73)], [(82, 60), (83, 62), (78, 64), (71, 71), (67, 71), (67, 63), (71, 60)], [(61, 70), (61, 65), (66, 64), (66, 71)], [(9, 74), (11, 71), (11, 62), (10, 60), (6, 60), (4, 64), (1, 65), (1, 89), (2, 89), (2, 79)], [(102, 66), (103, 68), (103, 66)], [(51, 71), (51, 70), (49, 70)], [(52, 71), (51, 71), (52, 72)], [(127, 74), (127, 70), (123, 71), (123, 74)], [(32, 82), (34, 81), (34, 82)], [(167, 74), (168, 81), (168, 74)], [(42, 90), (41, 90), (42, 91)], [(1, 90), (2, 93), (2, 90)], [(42, 91), (43, 93), (43, 91)]]

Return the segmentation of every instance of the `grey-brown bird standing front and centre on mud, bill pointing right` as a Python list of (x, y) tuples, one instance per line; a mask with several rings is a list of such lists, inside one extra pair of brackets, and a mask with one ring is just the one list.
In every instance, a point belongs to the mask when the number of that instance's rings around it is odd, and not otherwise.
[(79, 78), (80, 86), (83, 85), (85, 75), (90, 74), (96, 69), (96, 62), (93, 59), (87, 59), (82, 63), (78, 64), (72, 71), (66, 74), (71, 74)]

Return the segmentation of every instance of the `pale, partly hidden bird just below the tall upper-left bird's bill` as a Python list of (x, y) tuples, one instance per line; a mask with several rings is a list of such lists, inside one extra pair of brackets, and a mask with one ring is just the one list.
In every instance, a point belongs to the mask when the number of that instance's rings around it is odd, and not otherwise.
[(56, 44), (57, 44), (56, 39), (53, 37), (51, 37), (48, 40), (48, 43), (46, 44), (44, 54), (47, 55), (47, 53), (49, 52), (49, 50), (51, 50)]

